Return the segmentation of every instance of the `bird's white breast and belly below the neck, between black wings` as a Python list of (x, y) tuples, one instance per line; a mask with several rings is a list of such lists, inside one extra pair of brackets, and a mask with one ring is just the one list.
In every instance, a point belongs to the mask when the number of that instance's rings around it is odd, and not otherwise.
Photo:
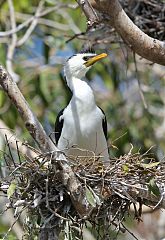
[(79, 110), (72, 104), (64, 110), (64, 125), (58, 142), (59, 149), (69, 155), (96, 154), (108, 160), (107, 143), (102, 129), (103, 113), (97, 106), (90, 112)]

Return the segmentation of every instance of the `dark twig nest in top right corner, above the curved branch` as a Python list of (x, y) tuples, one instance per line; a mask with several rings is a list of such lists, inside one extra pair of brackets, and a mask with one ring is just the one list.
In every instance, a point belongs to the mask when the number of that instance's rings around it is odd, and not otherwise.
[(165, 4), (163, 0), (120, 0), (131, 20), (150, 37), (165, 38)]

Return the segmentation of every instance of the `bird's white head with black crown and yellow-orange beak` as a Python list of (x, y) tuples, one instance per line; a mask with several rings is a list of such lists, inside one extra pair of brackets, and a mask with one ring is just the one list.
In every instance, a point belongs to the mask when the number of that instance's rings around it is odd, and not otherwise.
[(107, 57), (106, 53), (78, 53), (70, 57), (64, 65), (64, 74), (66, 78), (82, 78), (91, 66)]

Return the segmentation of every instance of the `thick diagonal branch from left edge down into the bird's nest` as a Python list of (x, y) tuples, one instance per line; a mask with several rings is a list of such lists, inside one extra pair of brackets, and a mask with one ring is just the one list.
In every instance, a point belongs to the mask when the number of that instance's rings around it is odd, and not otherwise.
[(85, 193), (83, 187), (75, 177), (71, 167), (68, 165), (67, 160), (63, 153), (52, 143), (50, 138), (46, 135), (42, 125), (36, 118), (35, 114), (30, 109), (28, 103), (24, 99), (22, 93), (18, 89), (16, 83), (12, 80), (8, 72), (0, 65), (0, 85), (7, 93), (11, 102), (15, 105), (22, 117), (25, 126), (34, 140), (38, 143), (43, 153), (53, 152), (51, 159), (55, 161), (55, 166), (61, 169), (61, 179), (70, 193), (73, 205), (80, 215), (87, 215), (92, 207), (85, 204)]

